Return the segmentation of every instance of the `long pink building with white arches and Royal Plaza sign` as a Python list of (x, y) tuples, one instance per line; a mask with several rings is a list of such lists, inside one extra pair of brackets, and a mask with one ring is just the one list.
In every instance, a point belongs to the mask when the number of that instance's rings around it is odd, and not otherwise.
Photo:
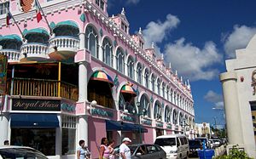
[[(107, 0), (39, 0), (47, 19), (37, 20), (35, 2), (20, 2), (0, 3), (0, 53), (8, 57), (1, 143), (73, 158), (84, 139), (97, 158), (102, 137), (119, 145), (124, 137), (192, 136), (189, 81), (156, 57), (154, 44), (145, 48), (141, 29), (130, 35), (125, 9), (109, 17)], [(6, 24), (6, 8), (21, 32)]]

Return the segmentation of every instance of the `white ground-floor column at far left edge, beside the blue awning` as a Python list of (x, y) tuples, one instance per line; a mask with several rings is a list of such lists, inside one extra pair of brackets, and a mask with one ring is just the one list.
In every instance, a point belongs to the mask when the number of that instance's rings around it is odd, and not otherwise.
[(1, 114), (0, 115), (0, 128), (2, 129), (0, 131), (0, 145), (3, 145), (3, 141), (8, 139), (9, 140), (9, 136), (8, 135), (8, 130), (9, 130), (9, 117), (8, 114)]

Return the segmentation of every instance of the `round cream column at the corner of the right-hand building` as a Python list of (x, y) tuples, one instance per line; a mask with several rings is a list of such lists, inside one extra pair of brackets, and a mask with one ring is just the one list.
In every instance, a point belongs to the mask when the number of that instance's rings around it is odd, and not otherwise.
[(220, 74), (224, 95), (224, 109), (227, 132), (230, 145), (243, 144), (241, 130), (241, 113), (236, 88), (236, 73), (224, 72)]

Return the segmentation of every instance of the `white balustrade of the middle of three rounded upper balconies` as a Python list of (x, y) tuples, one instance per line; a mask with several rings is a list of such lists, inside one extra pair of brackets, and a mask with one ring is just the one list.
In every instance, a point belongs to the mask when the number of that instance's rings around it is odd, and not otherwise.
[[(21, 46), (21, 57), (38, 57), (38, 58), (48, 58), (47, 44), (44, 43), (26, 43)], [(25, 56), (26, 54), (26, 56)]]

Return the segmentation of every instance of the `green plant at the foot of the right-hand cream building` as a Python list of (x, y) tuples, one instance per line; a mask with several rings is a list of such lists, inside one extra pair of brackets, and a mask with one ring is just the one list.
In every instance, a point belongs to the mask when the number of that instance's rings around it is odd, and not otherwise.
[(237, 146), (238, 145), (233, 145), (232, 149), (230, 150), (230, 155), (217, 156), (214, 157), (214, 159), (253, 159), (247, 156), (247, 153), (244, 150), (239, 150)]

